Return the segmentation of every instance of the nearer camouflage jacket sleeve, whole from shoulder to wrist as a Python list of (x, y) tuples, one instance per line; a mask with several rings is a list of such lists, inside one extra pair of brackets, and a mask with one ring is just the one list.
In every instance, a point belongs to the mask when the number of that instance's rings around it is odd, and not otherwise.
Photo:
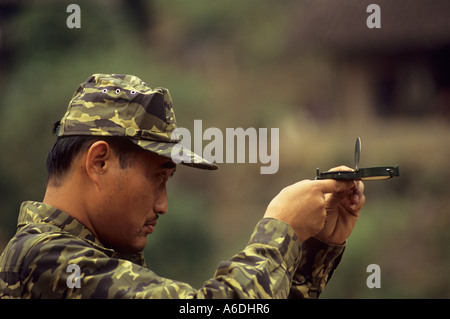
[[(44, 234), (42, 234), (44, 235)], [(262, 219), (245, 249), (219, 264), (200, 289), (112, 258), (67, 234), (51, 234), (28, 250), (20, 274), (25, 298), (286, 298), (301, 244), (293, 230)], [(73, 285), (79, 269), (79, 285)], [(76, 272), (75, 272), (76, 274)], [(69, 287), (70, 282), (72, 287)], [(76, 281), (75, 281), (76, 283)]]

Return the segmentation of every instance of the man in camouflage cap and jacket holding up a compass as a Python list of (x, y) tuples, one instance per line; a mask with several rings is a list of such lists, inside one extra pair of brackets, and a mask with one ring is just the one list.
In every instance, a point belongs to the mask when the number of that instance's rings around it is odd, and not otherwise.
[[(168, 90), (130, 75), (89, 77), (56, 123), (43, 202), (22, 204), (17, 233), (0, 257), (0, 296), (317, 298), (364, 204), (360, 182), (286, 187), (245, 249), (199, 289), (145, 267), (147, 236), (168, 210), (175, 128)], [(186, 160), (183, 151), (183, 164), (217, 168), (194, 153)]]

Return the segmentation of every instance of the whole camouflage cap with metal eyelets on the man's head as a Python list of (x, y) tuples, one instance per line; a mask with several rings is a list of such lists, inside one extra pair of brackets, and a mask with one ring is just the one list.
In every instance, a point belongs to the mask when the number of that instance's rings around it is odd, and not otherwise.
[[(147, 151), (201, 169), (217, 165), (178, 144), (172, 98), (133, 75), (94, 74), (76, 90), (56, 130), (73, 135), (125, 136)], [(180, 156), (182, 150), (183, 156)]]

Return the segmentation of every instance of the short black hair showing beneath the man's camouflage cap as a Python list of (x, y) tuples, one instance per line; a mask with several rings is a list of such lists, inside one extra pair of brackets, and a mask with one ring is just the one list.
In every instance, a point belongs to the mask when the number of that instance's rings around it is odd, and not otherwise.
[(74, 135), (58, 137), (47, 155), (47, 183), (57, 186), (65, 177), (73, 160), (83, 154), (97, 141), (105, 141), (118, 156), (119, 165), (125, 169), (130, 166), (131, 155), (140, 150), (140, 147), (130, 139), (121, 136), (87, 136)]

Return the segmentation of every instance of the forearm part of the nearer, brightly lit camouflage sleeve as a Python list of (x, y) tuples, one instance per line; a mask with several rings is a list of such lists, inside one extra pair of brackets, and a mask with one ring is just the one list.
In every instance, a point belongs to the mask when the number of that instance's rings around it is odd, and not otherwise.
[(300, 256), (301, 245), (292, 228), (263, 218), (247, 247), (220, 263), (214, 278), (200, 290), (202, 297), (287, 298)]

